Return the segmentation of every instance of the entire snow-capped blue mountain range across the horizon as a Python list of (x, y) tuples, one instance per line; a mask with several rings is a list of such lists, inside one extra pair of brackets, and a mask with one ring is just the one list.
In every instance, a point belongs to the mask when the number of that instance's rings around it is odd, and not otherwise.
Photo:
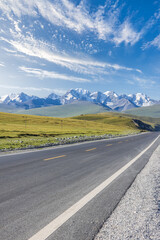
[(113, 91), (106, 92), (90, 92), (86, 89), (76, 88), (70, 89), (63, 96), (51, 93), (46, 98), (37, 96), (29, 96), (23, 92), (20, 94), (9, 94), (0, 97), (0, 106), (12, 106), (21, 109), (41, 108), (53, 105), (65, 105), (75, 101), (87, 101), (101, 106), (105, 106), (108, 110), (126, 111), (128, 109), (152, 106), (160, 103), (148, 97), (143, 93), (122, 94), (118, 95)]

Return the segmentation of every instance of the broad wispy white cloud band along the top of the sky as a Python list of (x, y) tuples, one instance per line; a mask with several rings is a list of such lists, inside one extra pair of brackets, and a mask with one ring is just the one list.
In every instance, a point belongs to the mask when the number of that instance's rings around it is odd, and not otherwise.
[[(41, 15), (44, 19), (56, 26), (68, 28), (82, 33), (84, 31), (94, 32), (99, 39), (112, 41), (116, 45), (135, 44), (139, 38), (138, 33), (129, 23), (120, 23), (119, 14), (121, 7), (119, 1), (106, 1), (97, 11), (90, 13), (80, 1), (78, 5), (69, 0), (1, 0), (0, 9), (10, 18), (12, 12), (15, 16), (28, 15), (38, 18)], [(19, 27), (14, 23), (17, 31)]]

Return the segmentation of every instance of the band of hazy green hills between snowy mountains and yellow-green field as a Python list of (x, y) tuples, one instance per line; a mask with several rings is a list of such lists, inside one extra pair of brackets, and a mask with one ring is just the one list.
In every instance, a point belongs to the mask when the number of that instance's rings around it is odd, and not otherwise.
[[(12, 109), (11, 109), (12, 110)], [(11, 111), (13, 112), (13, 111)], [(29, 110), (17, 110), (14, 113), (26, 114), (26, 115), (36, 115), (36, 116), (48, 116), (48, 117), (76, 117), (79, 115), (85, 114), (97, 114), (97, 113), (108, 113), (113, 114), (114, 116), (123, 116), (136, 118), (141, 121), (145, 121), (153, 124), (160, 124), (160, 104), (153, 105), (151, 107), (141, 107), (133, 108), (127, 110), (125, 113), (113, 112), (105, 106), (101, 106), (95, 103), (86, 102), (86, 101), (77, 101), (71, 104), (65, 104), (60, 106), (51, 106), (51, 107), (42, 107), (34, 108)]]

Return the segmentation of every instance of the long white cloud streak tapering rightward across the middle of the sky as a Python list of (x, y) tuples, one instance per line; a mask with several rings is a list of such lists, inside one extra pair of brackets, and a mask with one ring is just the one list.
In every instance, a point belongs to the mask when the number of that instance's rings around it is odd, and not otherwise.
[(49, 61), (77, 73), (98, 75), (108, 74), (109, 70), (141, 71), (139, 69), (128, 68), (118, 64), (99, 62), (92, 59), (87, 60), (83, 58), (75, 58), (62, 53), (59, 54), (53, 44), (50, 45), (44, 41), (36, 40), (31, 35), (23, 36), (20, 32), (17, 33), (13, 30), (12, 36), (13, 39), (11, 40), (8, 40), (4, 37), (0, 38), (0, 40), (9, 43), (13, 47), (11, 50), (4, 48), (4, 50), (6, 49), (7, 52), (14, 53), (16, 50), (19, 53)]

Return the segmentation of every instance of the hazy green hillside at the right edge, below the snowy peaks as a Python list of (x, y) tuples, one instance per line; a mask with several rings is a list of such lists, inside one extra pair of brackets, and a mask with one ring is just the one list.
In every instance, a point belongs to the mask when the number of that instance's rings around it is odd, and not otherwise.
[(153, 105), (150, 107), (132, 108), (130, 110), (125, 111), (125, 113), (136, 116), (160, 118), (160, 104)]

